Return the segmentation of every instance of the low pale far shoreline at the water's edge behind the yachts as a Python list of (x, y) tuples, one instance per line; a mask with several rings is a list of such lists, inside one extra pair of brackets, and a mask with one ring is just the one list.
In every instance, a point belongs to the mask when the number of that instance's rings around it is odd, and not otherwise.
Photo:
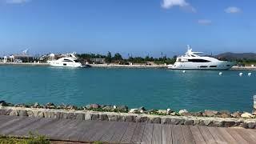
[[(138, 69), (166, 69), (166, 65), (118, 65), (118, 64), (89, 64), (94, 68), (138, 68)], [(50, 66), (48, 63), (16, 63), (16, 62), (0, 62), (0, 66)], [(256, 70), (256, 66), (233, 66), (230, 70)]]

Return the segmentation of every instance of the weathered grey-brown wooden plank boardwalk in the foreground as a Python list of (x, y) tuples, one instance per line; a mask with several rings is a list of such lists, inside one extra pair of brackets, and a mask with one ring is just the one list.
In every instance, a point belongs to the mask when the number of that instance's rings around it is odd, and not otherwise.
[(256, 130), (151, 123), (97, 122), (71, 119), (0, 116), (0, 134), (15, 137), (29, 132), (51, 140), (145, 144), (256, 143)]

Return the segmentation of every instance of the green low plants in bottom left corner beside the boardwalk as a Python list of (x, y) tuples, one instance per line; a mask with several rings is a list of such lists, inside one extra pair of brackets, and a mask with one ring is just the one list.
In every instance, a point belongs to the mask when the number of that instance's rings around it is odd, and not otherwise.
[(0, 144), (50, 144), (45, 136), (30, 134), (29, 138), (13, 138), (0, 136)]

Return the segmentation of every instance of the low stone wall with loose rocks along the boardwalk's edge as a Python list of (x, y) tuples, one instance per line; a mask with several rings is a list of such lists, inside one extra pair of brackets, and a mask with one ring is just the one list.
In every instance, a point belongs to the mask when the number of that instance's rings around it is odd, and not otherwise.
[(115, 122), (148, 122), (172, 125), (218, 126), (256, 128), (254, 114), (246, 112), (204, 110), (189, 112), (187, 110), (146, 110), (144, 107), (128, 109), (127, 106), (109, 106), (90, 104), (83, 107), (53, 103), (46, 105), (13, 105), (0, 101), (0, 115), (14, 115), (36, 118), (66, 118), (79, 120), (115, 121)]

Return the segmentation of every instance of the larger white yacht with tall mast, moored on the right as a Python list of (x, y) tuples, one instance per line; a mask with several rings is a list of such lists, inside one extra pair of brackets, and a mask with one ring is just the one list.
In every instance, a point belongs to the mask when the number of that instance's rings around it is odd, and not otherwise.
[(190, 46), (185, 55), (176, 59), (174, 65), (168, 65), (174, 70), (229, 70), (235, 62), (220, 61), (216, 58), (201, 57), (202, 52), (193, 52)]

